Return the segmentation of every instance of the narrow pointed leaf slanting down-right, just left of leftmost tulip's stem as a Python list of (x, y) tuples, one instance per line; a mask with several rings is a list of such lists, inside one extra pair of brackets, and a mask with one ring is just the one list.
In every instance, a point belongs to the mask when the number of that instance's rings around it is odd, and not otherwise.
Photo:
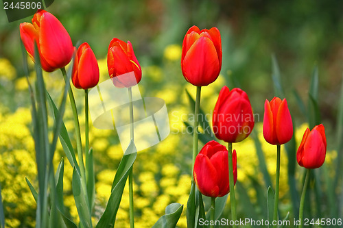
[[(60, 116), (58, 109), (54, 103), (54, 100), (51, 99), (49, 93), (48, 93), (47, 98), (48, 98), (47, 100), (49, 101), (49, 105), (51, 105), (51, 107), (54, 110), (54, 118), (56, 120), (58, 119), (58, 116)], [(80, 174), (80, 167), (78, 166), (78, 162), (75, 157), (73, 145), (71, 144), (71, 140), (69, 138), (67, 128), (65, 127), (63, 121), (61, 123), (61, 129), (60, 129), (60, 142), (62, 144), (63, 151), (66, 154), (67, 159), (69, 160), (69, 163), (71, 164), (71, 166), (75, 167), (78, 173)]]

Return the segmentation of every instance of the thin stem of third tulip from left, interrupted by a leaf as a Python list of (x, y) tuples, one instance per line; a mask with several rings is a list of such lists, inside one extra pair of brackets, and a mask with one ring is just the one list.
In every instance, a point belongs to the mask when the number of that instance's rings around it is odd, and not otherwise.
[[(133, 102), (132, 102), (132, 88), (128, 88), (128, 95), (130, 100), (130, 138), (134, 141), (134, 118), (133, 118)], [(134, 205), (133, 205), (133, 166), (130, 169), (129, 179), (129, 198), (130, 198), (130, 227), (134, 228)]]

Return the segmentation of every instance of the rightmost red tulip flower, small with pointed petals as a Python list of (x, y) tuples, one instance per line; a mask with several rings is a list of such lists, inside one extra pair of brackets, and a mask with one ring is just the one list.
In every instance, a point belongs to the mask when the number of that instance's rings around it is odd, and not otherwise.
[(319, 168), (324, 163), (326, 153), (327, 138), (324, 126), (317, 125), (312, 131), (307, 128), (296, 153), (298, 164), (305, 168)]

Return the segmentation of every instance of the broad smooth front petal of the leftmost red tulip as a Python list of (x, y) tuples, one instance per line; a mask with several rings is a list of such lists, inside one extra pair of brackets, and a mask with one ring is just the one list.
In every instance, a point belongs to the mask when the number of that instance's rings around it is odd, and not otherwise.
[(73, 44), (67, 30), (48, 12), (40, 16), (39, 46), (44, 60), (54, 68), (66, 66), (73, 55)]

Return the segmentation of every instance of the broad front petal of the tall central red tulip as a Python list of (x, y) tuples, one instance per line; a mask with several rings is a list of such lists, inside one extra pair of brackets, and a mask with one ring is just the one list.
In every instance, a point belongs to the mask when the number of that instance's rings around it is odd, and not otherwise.
[(217, 79), (220, 63), (213, 42), (200, 37), (182, 60), (182, 72), (194, 86), (207, 86)]

